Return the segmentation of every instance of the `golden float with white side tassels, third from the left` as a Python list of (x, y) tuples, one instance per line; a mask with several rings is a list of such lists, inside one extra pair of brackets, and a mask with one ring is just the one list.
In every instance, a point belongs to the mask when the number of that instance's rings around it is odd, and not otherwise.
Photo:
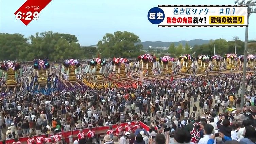
[[(67, 83), (74, 87), (73, 83), (80, 85), (78, 82), (81, 80), (77, 78), (81, 74), (80, 63), (76, 59), (69, 59), (63, 62), (61, 73), (64, 75), (62, 81), (68, 87)], [(81, 85), (80, 85), (81, 86)]]

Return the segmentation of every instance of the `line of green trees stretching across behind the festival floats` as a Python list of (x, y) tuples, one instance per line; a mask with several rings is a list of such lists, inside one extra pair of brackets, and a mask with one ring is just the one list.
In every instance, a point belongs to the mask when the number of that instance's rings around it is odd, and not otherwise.
[[(143, 54), (142, 45), (137, 35), (127, 31), (117, 31), (114, 34), (106, 33), (96, 47), (80, 46), (75, 35), (53, 33), (52, 31), (36, 33), (29, 37), (22, 34), (0, 33), (0, 59), (1, 60), (19, 60), (32, 61), (33, 59), (48, 58), (51, 61), (62, 61), (63, 59), (92, 59), (100, 55), (103, 58), (126, 57), (136, 58)], [(235, 41), (226, 41), (224, 39), (211, 40), (215, 44), (217, 54), (234, 53)], [(237, 53), (243, 53), (244, 42), (236, 41)], [(186, 44), (175, 47), (169, 46), (168, 52), (171, 56), (181, 54), (196, 55), (209, 54), (209, 45), (195, 45), (192, 49)], [(248, 45), (248, 52), (256, 54), (256, 44)]]

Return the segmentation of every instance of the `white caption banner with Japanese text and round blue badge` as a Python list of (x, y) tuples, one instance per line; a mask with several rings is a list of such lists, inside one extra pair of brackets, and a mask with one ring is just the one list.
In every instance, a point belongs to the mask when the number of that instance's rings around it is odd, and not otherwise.
[(246, 5), (158, 5), (148, 12), (158, 27), (246, 27)]

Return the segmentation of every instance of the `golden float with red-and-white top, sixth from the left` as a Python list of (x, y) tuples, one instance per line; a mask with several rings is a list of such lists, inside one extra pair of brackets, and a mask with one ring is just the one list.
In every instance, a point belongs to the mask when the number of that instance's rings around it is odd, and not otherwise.
[(152, 68), (155, 69), (156, 57), (151, 54), (138, 56), (137, 66), (142, 70), (144, 76), (152, 76)]

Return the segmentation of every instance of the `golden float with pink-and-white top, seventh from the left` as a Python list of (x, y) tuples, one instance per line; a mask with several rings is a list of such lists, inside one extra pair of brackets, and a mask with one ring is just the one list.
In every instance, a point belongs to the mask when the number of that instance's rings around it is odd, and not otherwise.
[(171, 75), (173, 70), (173, 62), (174, 59), (170, 56), (164, 56), (159, 58), (159, 63), (162, 67), (162, 74), (163, 75)]

